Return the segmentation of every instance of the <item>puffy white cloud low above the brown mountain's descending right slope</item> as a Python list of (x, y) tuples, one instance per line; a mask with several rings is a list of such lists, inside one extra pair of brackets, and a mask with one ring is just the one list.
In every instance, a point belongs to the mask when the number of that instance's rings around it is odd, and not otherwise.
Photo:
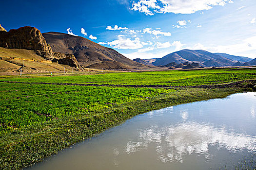
[(140, 49), (143, 47), (138, 37), (131, 40), (130, 38), (124, 38), (124, 35), (118, 35), (118, 39), (107, 44), (115, 49)]

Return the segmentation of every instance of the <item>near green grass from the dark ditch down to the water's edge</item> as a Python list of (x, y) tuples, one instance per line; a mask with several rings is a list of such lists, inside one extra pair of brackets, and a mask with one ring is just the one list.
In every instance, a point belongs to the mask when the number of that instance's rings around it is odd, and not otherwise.
[(0, 169), (30, 166), (138, 114), (225, 98), (254, 85), (255, 80), (229, 88), (176, 89), (0, 83)]

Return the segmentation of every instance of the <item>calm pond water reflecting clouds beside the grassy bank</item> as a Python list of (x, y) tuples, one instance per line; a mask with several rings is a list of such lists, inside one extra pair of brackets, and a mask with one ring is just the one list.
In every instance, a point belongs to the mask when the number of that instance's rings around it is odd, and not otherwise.
[(248, 92), (139, 115), (32, 169), (232, 169), (255, 153), (256, 93)]

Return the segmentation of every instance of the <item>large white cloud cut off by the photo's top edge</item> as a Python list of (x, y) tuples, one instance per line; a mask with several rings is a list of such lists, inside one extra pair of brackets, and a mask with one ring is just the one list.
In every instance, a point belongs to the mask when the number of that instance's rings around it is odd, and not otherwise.
[(154, 15), (156, 13), (193, 14), (209, 10), (213, 6), (224, 6), (232, 0), (138, 0), (133, 1), (131, 10)]

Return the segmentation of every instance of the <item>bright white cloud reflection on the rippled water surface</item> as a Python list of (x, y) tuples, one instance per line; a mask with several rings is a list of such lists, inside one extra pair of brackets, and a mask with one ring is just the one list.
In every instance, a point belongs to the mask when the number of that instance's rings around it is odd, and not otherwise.
[(149, 144), (156, 145), (158, 159), (163, 163), (173, 160), (183, 162), (183, 157), (192, 153), (203, 154), (206, 159), (209, 159), (212, 157), (209, 146), (213, 145), (232, 152), (242, 149), (256, 151), (254, 136), (228, 133), (225, 127), (216, 129), (209, 124), (186, 122), (177, 126), (139, 130), (137, 140), (129, 141), (126, 144), (125, 152), (127, 154), (135, 153), (141, 149), (147, 149)]

